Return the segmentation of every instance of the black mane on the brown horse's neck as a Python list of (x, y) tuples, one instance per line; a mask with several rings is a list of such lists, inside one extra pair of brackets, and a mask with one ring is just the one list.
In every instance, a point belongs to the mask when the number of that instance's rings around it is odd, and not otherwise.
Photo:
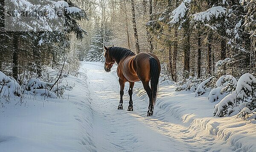
[(131, 50), (127, 48), (121, 48), (121, 47), (109, 47), (108, 48), (109, 55), (112, 56), (117, 64), (121, 61), (121, 59), (124, 59), (128, 56), (135, 56), (135, 53), (133, 53)]

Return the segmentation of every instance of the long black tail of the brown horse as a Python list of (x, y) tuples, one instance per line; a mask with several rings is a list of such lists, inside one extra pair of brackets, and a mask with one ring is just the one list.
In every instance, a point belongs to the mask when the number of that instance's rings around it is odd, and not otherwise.
[(151, 57), (149, 59), (150, 63), (150, 87), (152, 90), (152, 104), (155, 104), (157, 100), (157, 92), (158, 92), (158, 81), (160, 76), (160, 67), (158, 67), (157, 59)]

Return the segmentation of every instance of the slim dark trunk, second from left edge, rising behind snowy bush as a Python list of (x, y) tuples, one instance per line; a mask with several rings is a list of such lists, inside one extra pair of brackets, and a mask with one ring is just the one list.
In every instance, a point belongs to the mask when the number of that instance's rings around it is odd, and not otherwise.
[(18, 79), (18, 50), (19, 50), (19, 34), (16, 32), (13, 36), (13, 53), (12, 53), (12, 77)]

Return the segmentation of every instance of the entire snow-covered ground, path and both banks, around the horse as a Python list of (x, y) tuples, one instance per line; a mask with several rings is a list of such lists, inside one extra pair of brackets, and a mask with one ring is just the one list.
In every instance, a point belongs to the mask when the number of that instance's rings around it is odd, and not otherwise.
[(0, 108), (0, 151), (256, 151), (256, 121), (212, 117), (216, 103), (207, 101), (207, 93), (175, 92), (171, 82), (160, 83), (153, 116), (146, 116), (148, 97), (140, 82), (134, 111), (125, 110), (128, 84), (124, 110), (117, 110), (115, 69), (107, 73), (102, 63), (83, 62), (78, 78), (66, 78), (75, 87), (64, 99), (38, 97), (26, 99), (26, 107), (12, 101)]

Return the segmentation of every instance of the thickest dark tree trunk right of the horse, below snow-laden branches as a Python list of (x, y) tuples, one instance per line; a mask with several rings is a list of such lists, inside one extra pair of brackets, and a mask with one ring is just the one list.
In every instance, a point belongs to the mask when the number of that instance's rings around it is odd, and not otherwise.
[(190, 59), (190, 29), (189, 20), (187, 19), (184, 23), (183, 33), (183, 51), (184, 51), (184, 70), (189, 70), (189, 59)]

